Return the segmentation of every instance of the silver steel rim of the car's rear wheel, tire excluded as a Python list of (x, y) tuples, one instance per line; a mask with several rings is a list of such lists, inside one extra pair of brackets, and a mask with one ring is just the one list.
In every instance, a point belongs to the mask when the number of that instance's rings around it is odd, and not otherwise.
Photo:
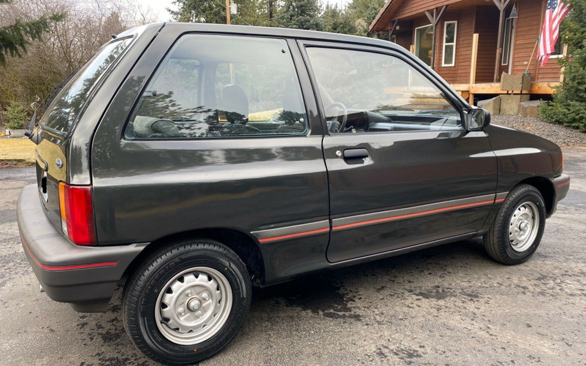
[(213, 268), (194, 267), (175, 275), (161, 289), (156, 326), (169, 341), (192, 346), (222, 329), (231, 308), (232, 289), (226, 277)]

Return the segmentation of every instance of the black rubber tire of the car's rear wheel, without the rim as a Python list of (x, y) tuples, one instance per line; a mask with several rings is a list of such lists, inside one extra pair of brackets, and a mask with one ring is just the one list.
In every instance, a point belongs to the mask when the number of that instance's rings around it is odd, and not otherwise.
[[(222, 272), (230, 284), (232, 305), (226, 323), (211, 338), (182, 346), (169, 341), (156, 326), (158, 290), (173, 276), (196, 266)], [(180, 241), (149, 256), (128, 279), (122, 295), (124, 328), (152, 360), (166, 365), (193, 364), (222, 350), (236, 335), (250, 308), (251, 288), (246, 265), (230, 248), (207, 239)]]

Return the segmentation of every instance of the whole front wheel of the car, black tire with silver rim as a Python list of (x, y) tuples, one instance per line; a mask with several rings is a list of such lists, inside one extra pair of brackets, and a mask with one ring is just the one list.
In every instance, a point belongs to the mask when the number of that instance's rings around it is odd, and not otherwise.
[(539, 190), (521, 184), (507, 195), (484, 235), (486, 252), (502, 264), (527, 261), (536, 251), (546, 225), (546, 208)]

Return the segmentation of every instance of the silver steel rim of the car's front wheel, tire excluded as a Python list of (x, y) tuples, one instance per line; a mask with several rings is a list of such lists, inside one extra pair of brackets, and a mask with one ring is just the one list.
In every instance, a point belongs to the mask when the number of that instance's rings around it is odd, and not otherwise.
[(509, 242), (516, 252), (526, 251), (539, 231), (539, 210), (533, 202), (523, 202), (513, 212), (509, 222)]

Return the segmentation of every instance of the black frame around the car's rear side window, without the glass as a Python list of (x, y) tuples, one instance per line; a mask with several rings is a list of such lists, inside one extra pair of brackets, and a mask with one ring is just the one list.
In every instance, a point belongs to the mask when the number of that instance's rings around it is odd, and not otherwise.
[[(145, 93), (145, 91), (147, 91), (147, 88), (149, 87), (151, 82), (154, 80), (154, 78), (158, 76), (159, 71), (161, 70), (161, 67), (163, 66), (163, 63), (167, 60), (167, 57), (169, 56), (169, 54), (171, 54), (171, 52), (175, 49), (175, 46), (179, 43), (179, 41), (182, 39), (182, 37), (186, 37), (186, 36), (246, 37), (246, 38), (251, 38), (251, 39), (271, 39), (271, 40), (284, 41), (285, 44), (287, 45), (289, 57), (291, 57), (294, 75), (295, 75), (295, 77), (297, 77), (299, 91), (301, 93), (301, 98), (302, 98), (302, 104), (305, 108), (306, 121), (305, 121), (304, 132), (302, 134), (293, 134), (293, 133), (286, 133), (286, 132), (285, 133), (283, 133), (283, 132), (276, 133), (275, 132), (275, 133), (271, 133), (271, 134), (246, 134), (246, 135), (243, 134), (243, 135), (232, 135), (232, 136), (228, 136), (228, 135), (227, 136), (221, 136), (221, 135), (220, 136), (193, 136), (193, 137), (171, 137), (171, 136), (169, 136), (169, 137), (161, 137), (161, 138), (128, 137), (126, 135), (126, 131), (128, 129), (128, 126), (130, 125), (130, 122), (132, 121), (132, 118), (135, 117), (135, 112), (137, 111), (137, 108), (139, 107), (142, 95)], [(214, 33), (185, 32), (185, 33), (180, 33), (173, 40), (171, 45), (169, 45), (168, 49), (166, 49), (166, 51), (162, 55), (161, 59), (156, 62), (154, 69), (152, 69), (150, 71), (150, 73), (147, 77), (147, 81), (145, 82), (144, 86), (141, 88), (141, 90), (137, 94), (135, 101), (132, 104), (132, 107), (130, 108), (130, 111), (128, 112), (128, 115), (125, 118), (124, 124), (122, 125), (122, 128), (120, 130), (122, 141), (126, 141), (126, 142), (132, 142), (132, 141), (138, 141), (138, 142), (139, 141), (149, 141), (149, 142), (157, 142), (157, 141), (160, 141), (160, 142), (165, 142), (165, 141), (219, 141), (219, 140), (234, 139), (234, 138), (236, 138), (236, 139), (292, 138), (292, 137), (309, 137), (309, 136), (314, 135), (314, 134), (312, 134), (312, 126), (311, 126), (311, 115), (310, 115), (311, 108), (309, 108), (310, 106), (308, 105), (308, 101), (306, 100), (308, 98), (308, 96), (306, 95), (306, 93), (304, 91), (304, 87), (302, 84), (302, 76), (299, 71), (299, 67), (302, 67), (302, 66), (300, 66), (297, 63), (297, 61), (295, 61), (295, 51), (297, 51), (297, 50), (291, 49), (290, 41), (291, 41), (291, 39), (289, 37), (271, 36), (271, 35), (247, 35), (247, 34), (240, 34), (240, 33), (224, 33), (224, 32), (214, 32)], [(199, 79), (198, 84), (202, 84), (199, 86), (203, 88), (203, 83), (199, 82), (201, 80), (201, 78), (198, 78), (198, 79)], [(203, 93), (203, 91), (202, 91), (202, 93)]]

